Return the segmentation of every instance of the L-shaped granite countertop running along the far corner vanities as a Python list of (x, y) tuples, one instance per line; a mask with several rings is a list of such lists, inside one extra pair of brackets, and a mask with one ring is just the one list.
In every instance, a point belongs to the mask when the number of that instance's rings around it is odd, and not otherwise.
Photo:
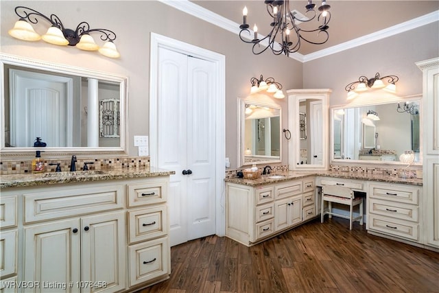
[(244, 178), (226, 178), (224, 179), (226, 182), (237, 183), (241, 185), (248, 186), (259, 186), (259, 185), (268, 185), (271, 183), (281, 183), (283, 181), (289, 181), (294, 179), (305, 178), (307, 176), (327, 176), (327, 177), (335, 177), (335, 178), (344, 178), (344, 179), (357, 179), (357, 180), (372, 180), (372, 181), (380, 181), (387, 183), (402, 183), (409, 185), (423, 185), (422, 179), (417, 178), (399, 178), (397, 176), (388, 176), (381, 174), (370, 174), (366, 172), (334, 172), (334, 171), (316, 171), (316, 172), (276, 172), (274, 175), (283, 176), (282, 178), (268, 178), (271, 175), (261, 176), (257, 179), (244, 179)]

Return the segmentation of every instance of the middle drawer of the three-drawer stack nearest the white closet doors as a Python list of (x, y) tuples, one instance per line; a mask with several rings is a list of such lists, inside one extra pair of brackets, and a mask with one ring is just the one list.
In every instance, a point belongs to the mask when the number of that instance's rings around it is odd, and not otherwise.
[(130, 243), (163, 237), (167, 234), (167, 207), (128, 212)]

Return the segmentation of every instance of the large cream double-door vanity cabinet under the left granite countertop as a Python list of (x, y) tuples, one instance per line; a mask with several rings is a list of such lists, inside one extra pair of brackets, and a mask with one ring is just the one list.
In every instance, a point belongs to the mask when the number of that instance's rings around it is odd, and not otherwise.
[(158, 176), (2, 189), (2, 203), (16, 195), (23, 207), (17, 279), (36, 288), (19, 292), (66, 284), (65, 292), (122, 292), (167, 279), (168, 183)]

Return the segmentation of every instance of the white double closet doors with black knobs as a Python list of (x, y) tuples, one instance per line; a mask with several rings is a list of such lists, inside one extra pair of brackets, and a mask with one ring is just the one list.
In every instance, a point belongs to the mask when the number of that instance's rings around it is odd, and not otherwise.
[(214, 74), (211, 62), (158, 51), (158, 167), (176, 171), (169, 182), (171, 246), (215, 234)]

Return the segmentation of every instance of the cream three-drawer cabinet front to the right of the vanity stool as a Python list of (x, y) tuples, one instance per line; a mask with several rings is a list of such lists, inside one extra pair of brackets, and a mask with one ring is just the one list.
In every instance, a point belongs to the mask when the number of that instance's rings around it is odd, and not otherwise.
[(421, 196), (420, 187), (370, 182), (368, 231), (421, 243)]

